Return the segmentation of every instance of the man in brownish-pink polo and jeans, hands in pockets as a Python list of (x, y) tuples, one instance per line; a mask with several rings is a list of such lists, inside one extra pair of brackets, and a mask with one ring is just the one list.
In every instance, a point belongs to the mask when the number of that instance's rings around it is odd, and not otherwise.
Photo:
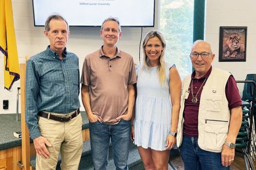
[(116, 169), (128, 169), (136, 72), (133, 57), (117, 48), (122, 32), (116, 18), (103, 21), (103, 45), (84, 59), (82, 103), (90, 121), (94, 169), (106, 169), (111, 139)]

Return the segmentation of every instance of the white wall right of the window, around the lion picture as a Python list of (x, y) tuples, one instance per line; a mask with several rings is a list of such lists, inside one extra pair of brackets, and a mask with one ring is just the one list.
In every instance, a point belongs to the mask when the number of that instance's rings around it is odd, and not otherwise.
[[(230, 71), (236, 80), (245, 80), (247, 74), (256, 74), (256, 1), (207, 0), (205, 40), (216, 54), (212, 65)], [(247, 27), (246, 62), (219, 62), (220, 26)], [(254, 66), (253, 66), (254, 65)], [(240, 94), (243, 83), (238, 83)]]

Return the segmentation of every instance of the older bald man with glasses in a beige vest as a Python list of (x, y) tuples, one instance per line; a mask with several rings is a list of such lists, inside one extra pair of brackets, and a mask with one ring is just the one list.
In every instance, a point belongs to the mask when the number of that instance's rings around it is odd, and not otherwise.
[(242, 101), (233, 76), (211, 66), (209, 43), (194, 42), (195, 70), (183, 80), (177, 145), (185, 169), (229, 169), (242, 122)]

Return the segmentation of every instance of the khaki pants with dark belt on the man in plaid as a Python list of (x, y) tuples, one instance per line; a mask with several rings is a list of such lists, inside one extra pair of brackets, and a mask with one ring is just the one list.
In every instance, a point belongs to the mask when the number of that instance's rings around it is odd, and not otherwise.
[(59, 152), (62, 170), (78, 169), (83, 143), (81, 114), (71, 119), (70, 122), (58, 122), (39, 116), (38, 124), (41, 136), (47, 138), (52, 147), (47, 147), (50, 152), (49, 158), (44, 159), (36, 155), (36, 170), (55, 170)]

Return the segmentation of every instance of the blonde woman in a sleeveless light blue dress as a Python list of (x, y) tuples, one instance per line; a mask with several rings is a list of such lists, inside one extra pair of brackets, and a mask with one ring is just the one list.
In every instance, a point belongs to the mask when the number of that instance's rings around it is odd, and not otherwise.
[(175, 65), (164, 61), (165, 40), (150, 31), (143, 41), (143, 64), (136, 67), (137, 99), (131, 138), (145, 169), (168, 169), (176, 144), (181, 79)]

